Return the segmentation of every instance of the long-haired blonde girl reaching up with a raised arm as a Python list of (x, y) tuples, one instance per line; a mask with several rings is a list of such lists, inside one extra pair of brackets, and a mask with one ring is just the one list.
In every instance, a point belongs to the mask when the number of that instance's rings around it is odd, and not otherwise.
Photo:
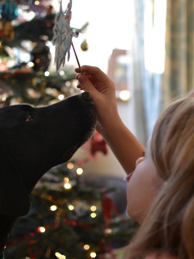
[(82, 70), (77, 87), (95, 103), (97, 130), (128, 175), (128, 214), (141, 223), (124, 258), (194, 259), (194, 98), (160, 115), (144, 149), (118, 115), (114, 83), (96, 67)]

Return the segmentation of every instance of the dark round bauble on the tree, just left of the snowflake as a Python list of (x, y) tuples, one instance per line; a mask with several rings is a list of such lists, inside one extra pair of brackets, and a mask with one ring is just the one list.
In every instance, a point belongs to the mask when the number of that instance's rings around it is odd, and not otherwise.
[(51, 52), (44, 40), (39, 40), (31, 52), (34, 71), (46, 71), (51, 62)]

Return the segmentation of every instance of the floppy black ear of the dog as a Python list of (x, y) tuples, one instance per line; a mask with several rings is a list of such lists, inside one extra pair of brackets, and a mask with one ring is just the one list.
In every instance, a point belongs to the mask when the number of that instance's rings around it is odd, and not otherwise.
[(20, 217), (26, 215), (29, 209), (28, 191), (0, 140), (0, 213)]

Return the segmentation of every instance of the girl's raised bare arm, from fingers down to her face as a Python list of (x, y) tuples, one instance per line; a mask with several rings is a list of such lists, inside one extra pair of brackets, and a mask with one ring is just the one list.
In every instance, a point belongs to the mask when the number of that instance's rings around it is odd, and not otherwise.
[[(79, 69), (75, 69), (80, 72)], [(115, 85), (97, 67), (83, 66), (78, 74), (78, 88), (89, 92), (98, 114), (97, 130), (106, 140), (127, 174), (135, 169), (136, 160), (145, 148), (123, 124), (117, 109)]]

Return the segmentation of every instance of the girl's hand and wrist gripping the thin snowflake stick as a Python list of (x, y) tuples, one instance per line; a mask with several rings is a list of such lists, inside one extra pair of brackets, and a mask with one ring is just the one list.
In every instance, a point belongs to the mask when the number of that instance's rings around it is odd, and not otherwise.
[[(120, 120), (116, 104), (115, 84), (98, 67), (82, 66), (83, 75), (80, 69), (76, 68), (78, 73), (78, 88), (88, 92), (95, 104), (98, 114), (97, 130), (110, 130), (111, 125)], [(100, 127), (99, 127), (100, 126)]]

